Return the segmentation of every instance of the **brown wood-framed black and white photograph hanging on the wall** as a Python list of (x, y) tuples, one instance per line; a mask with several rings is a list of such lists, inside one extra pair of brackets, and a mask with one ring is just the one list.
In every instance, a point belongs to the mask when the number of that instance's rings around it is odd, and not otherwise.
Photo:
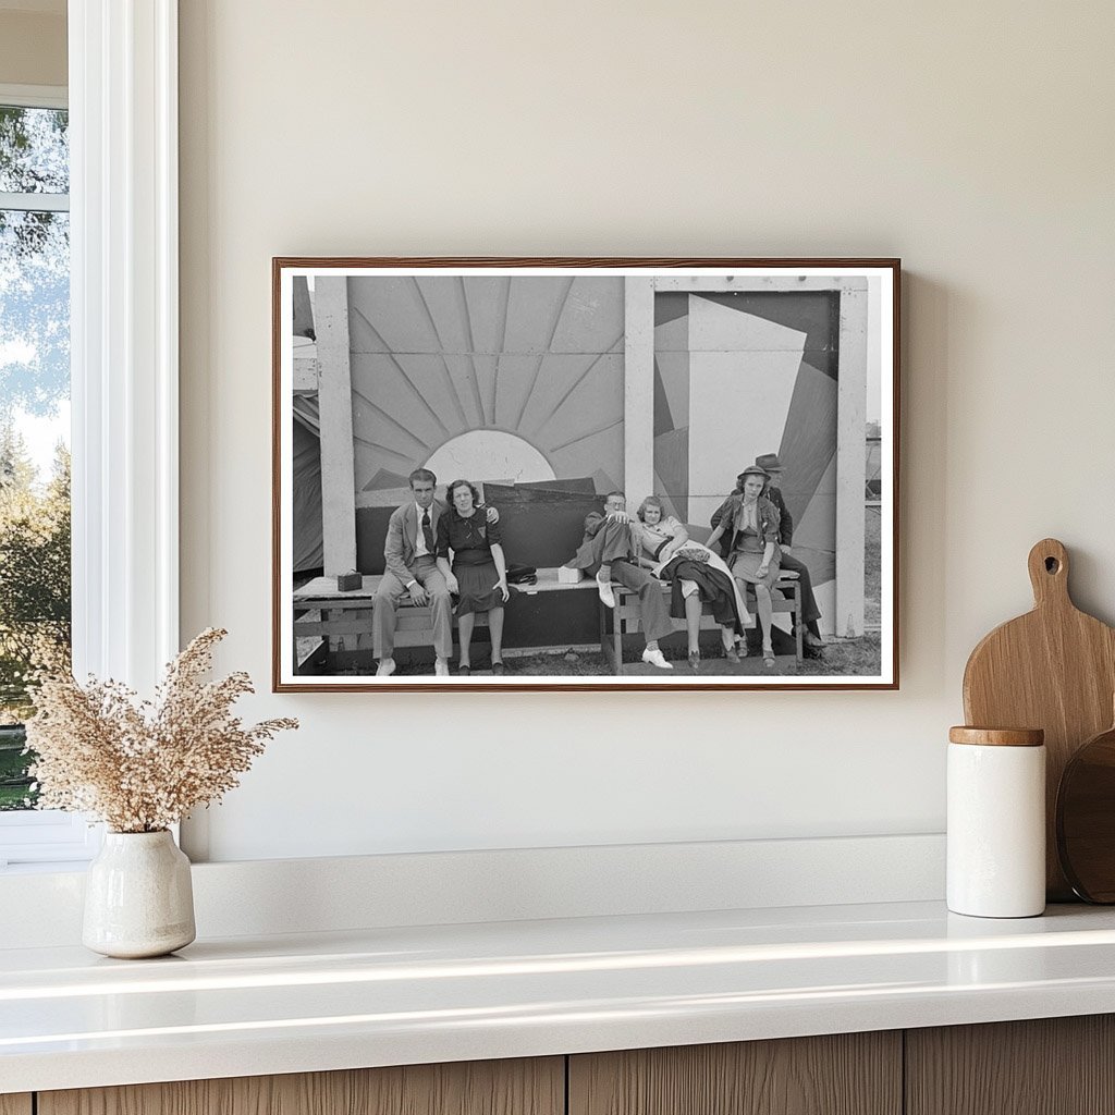
[(275, 259), (274, 689), (896, 688), (899, 277)]

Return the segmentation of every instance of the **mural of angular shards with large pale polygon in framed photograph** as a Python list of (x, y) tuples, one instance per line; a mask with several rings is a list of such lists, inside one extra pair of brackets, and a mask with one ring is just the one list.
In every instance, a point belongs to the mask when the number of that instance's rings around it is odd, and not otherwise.
[(655, 298), (656, 487), (705, 527), (736, 475), (777, 453), (815, 585), (835, 576), (838, 348), (835, 292)]

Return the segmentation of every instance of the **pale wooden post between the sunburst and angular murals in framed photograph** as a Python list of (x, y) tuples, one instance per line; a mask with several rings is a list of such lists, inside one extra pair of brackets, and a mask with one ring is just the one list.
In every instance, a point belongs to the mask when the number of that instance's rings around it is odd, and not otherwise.
[(623, 491), (641, 500), (655, 491), (653, 279), (623, 280)]

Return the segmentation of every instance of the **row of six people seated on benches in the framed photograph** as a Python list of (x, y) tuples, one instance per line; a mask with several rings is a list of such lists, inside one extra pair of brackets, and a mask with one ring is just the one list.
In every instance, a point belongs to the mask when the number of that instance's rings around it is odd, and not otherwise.
[[(631, 594), (637, 622), (623, 628), (623, 634), (641, 636), (639, 659), (653, 670), (675, 670), (675, 660), (680, 659), (680, 665), (688, 663), (692, 672), (700, 672), (702, 620), (709, 615), (719, 633), (719, 656), (712, 655), (719, 658), (716, 669), (730, 672), (741, 667), (748, 657), (746, 632), (756, 623), (763, 669), (776, 669), (773, 593), (787, 568), (794, 570), (801, 585), (801, 604), (793, 619), (808, 624), (811, 642), (818, 644), (815, 631), (820, 611), (809, 571), (786, 552), (792, 545), (793, 520), (777, 484), (780, 462), (775, 454), (760, 455), (756, 462), (737, 476), (735, 489), (712, 516), (712, 531), (706, 542), (692, 533), (699, 535), (704, 530), (682, 523), (660, 495), (646, 496), (632, 515), (627, 510), (626, 494), (610, 492), (597, 496), (602, 506), (598, 504), (599, 510), (584, 517), (581, 544), (564, 569), (584, 571), (592, 579), (601, 609), (615, 608), (618, 591)], [(411, 500), (391, 512), (384, 541), (385, 572), (375, 589), (371, 632), (379, 663), (377, 676), (396, 672), (396, 630), (399, 610), (406, 605), (428, 611), (427, 637), (433, 643), (435, 676), (473, 675), (477, 617), (486, 620), (491, 673), (504, 676), (506, 605), (515, 590), (508, 585), (510, 563), (500, 512), (483, 503), (482, 485), (473, 481), (453, 481), (444, 497), (438, 498), (437, 476), (429, 468), (416, 468), (407, 479)], [(508, 491), (498, 484), (495, 487)], [(522, 543), (522, 533), (517, 536)], [(539, 591), (539, 574), (544, 591), (546, 585), (554, 586), (550, 579), (559, 572), (510, 568), (511, 580), (523, 583), (532, 594)], [(524, 580), (521, 574), (529, 575)], [(748, 609), (748, 592), (754, 593), (754, 617)], [(603, 630), (605, 624), (601, 624)], [(683, 659), (678, 640), (669, 651), (662, 646), (676, 631), (680, 634), (682, 627)], [(518, 627), (514, 633), (520, 636), (521, 644), (525, 633)], [(457, 665), (450, 671), (454, 639)], [(710, 651), (707, 646), (706, 655)], [(428, 670), (420, 665), (420, 657), (409, 655), (407, 661), (407, 672)], [(486, 673), (486, 663), (482, 665)]]

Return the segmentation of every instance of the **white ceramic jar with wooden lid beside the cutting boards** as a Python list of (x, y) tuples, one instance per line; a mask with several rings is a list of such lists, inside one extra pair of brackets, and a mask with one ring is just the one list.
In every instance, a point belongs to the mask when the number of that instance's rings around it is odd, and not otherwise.
[(1046, 749), (1039, 728), (950, 728), (948, 906), (977, 918), (1045, 910)]

